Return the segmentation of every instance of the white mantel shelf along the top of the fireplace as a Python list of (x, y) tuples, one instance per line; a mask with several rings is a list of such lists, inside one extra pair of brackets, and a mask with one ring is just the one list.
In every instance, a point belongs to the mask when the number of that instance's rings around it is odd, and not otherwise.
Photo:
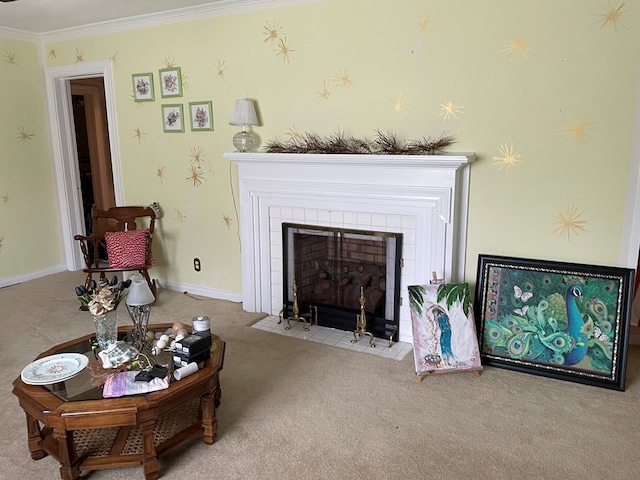
[(271, 163), (279, 165), (337, 165), (393, 168), (447, 168), (457, 169), (475, 160), (473, 153), (443, 153), (440, 155), (379, 155), (342, 153), (225, 153), (225, 158), (238, 164)]

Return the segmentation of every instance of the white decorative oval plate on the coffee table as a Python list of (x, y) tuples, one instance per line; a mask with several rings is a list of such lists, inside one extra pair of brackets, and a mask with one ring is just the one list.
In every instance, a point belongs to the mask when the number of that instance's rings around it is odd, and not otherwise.
[(41, 358), (22, 369), (20, 377), (29, 385), (49, 385), (77, 375), (89, 364), (79, 353), (59, 353)]

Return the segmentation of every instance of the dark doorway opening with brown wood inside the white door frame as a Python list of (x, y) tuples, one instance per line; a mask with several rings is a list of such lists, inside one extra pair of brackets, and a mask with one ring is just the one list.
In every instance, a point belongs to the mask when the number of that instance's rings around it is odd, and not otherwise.
[(104, 79), (83, 78), (69, 82), (75, 129), (78, 175), (85, 232), (93, 232), (91, 208), (115, 207)]

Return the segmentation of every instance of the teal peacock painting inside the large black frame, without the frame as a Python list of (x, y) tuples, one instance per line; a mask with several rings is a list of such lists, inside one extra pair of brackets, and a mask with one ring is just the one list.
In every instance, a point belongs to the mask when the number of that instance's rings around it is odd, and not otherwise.
[(610, 374), (615, 279), (488, 267), (482, 354)]

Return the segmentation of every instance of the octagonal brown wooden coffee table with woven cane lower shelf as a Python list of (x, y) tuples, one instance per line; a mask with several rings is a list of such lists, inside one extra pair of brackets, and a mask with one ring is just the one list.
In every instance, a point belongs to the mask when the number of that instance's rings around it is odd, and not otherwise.
[[(158, 324), (149, 329), (169, 327), (171, 324)], [(124, 331), (121, 327), (120, 333)], [(37, 358), (73, 352), (92, 359), (91, 336), (57, 345)], [(206, 444), (213, 444), (225, 343), (212, 337), (211, 358), (198, 372), (146, 395), (103, 398), (102, 388), (91, 386), (88, 369), (48, 386), (27, 385), (18, 377), (13, 393), (27, 417), (31, 458), (38, 460), (47, 454), (56, 458), (63, 480), (75, 480), (88, 470), (135, 465), (142, 465), (147, 480), (156, 480), (158, 457), (198, 434)]]

